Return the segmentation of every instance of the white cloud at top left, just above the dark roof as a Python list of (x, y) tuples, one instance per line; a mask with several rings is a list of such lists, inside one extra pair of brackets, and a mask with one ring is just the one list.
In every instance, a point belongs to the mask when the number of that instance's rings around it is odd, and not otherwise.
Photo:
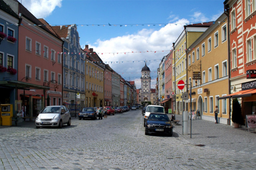
[[(21, 2), (21, 0), (18, 0)], [(22, 5), (26, 7), (37, 18), (46, 18), (52, 11), (61, 8), (62, 0), (22, 0)]]

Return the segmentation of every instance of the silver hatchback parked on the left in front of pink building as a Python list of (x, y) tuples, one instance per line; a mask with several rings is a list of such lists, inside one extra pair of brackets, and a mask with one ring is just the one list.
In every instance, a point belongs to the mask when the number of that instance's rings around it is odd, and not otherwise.
[(35, 127), (59, 127), (71, 125), (71, 116), (65, 106), (46, 106), (35, 119)]

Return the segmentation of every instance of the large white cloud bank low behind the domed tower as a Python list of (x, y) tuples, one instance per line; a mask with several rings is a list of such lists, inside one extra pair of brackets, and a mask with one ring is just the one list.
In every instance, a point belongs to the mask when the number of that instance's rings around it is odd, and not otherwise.
[[(100, 58), (125, 80), (134, 80), (137, 88), (140, 88), (141, 69), (146, 60), (151, 70), (151, 87), (155, 88), (156, 71), (161, 59), (168, 55), (173, 43), (184, 29), (184, 23), (188, 22), (187, 19), (181, 19), (177, 21), (180, 24), (166, 25), (160, 30), (153, 30), (149, 27), (139, 30), (136, 34), (126, 34), (104, 41), (98, 39), (95, 44), (89, 44), (89, 48), (98, 52)], [(132, 51), (134, 53), (131, 53)], [(155, 51), (158, 52), (155, 53)]]

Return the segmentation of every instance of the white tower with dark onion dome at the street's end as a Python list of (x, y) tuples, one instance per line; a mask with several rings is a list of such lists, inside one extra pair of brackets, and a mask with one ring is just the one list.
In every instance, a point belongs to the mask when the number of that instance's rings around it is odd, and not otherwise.
[(150, 102), (151, 101), (151, 77), (150, 69), (145, 62), (145, 66), (141, 69), (141, 102)]

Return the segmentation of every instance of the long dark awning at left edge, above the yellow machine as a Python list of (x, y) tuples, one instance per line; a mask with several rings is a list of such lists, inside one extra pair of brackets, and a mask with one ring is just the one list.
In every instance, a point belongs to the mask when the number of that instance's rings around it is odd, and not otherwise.
[(35, 84), (26, 83), (22, 81), (0, 81), (0, 87), (17, 88), (17, 89), (24, 89), (24, 90), (30, 90), (30, 89), (49, 90), (50, 89), (50, 87), (46, 87), (43, 85), (35, 85)]

